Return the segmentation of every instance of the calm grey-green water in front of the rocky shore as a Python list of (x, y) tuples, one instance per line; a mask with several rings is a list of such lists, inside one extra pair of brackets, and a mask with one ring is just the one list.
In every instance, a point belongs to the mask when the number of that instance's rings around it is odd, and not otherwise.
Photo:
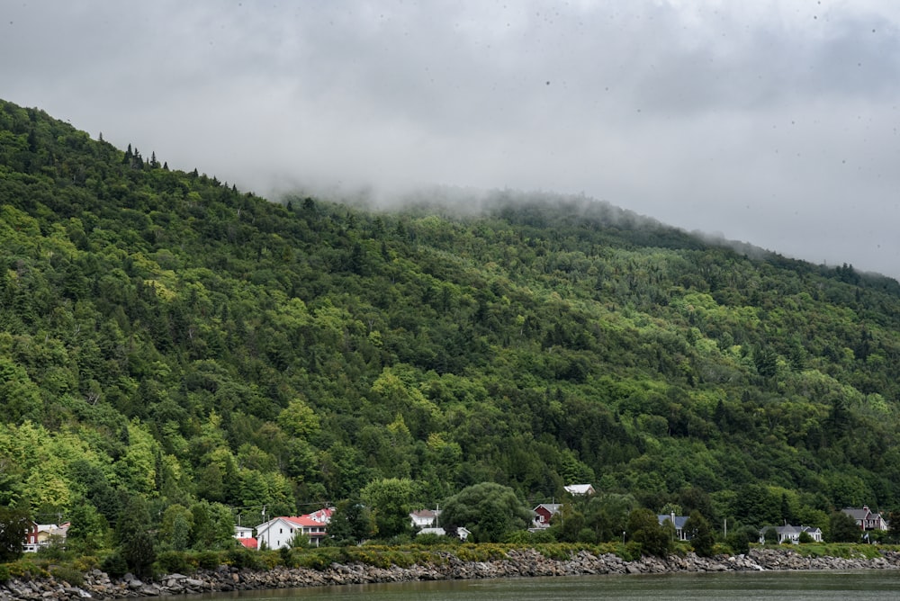
[[(188, 597), (179, 597), (185, 599)], [(240, 601), (771, 601), (790, 598), (816, 601), (895, 601), (900, 598), (900, 571), (767, 571), (658, 576), (578, 576), (534, 579), (455, 580), (292, 588), (201, 595), (192, 599)]]

